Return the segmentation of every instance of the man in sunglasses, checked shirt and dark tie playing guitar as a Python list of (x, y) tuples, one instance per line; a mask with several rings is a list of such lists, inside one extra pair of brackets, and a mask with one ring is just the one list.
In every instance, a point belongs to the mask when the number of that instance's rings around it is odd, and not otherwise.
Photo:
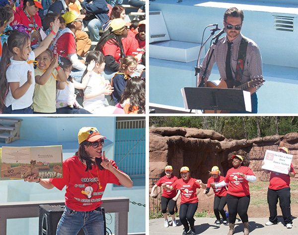
[[(202, 80), (207, 61), (213, 49), (214, 52), (204, 80), (205, 86), (215, 63), (220, 72), (221, 80), (231, 82), (231, 88), (245, 84), (253, 77), (262, 77), (262, 57), (259, 47), (254, 41), (241, 34), (243, 19), (243, 11), (236, 7), (231, 7), (224, 12), (226, 36), (220, 38), (216, 45), (213, 44), (206, 54), (200, 66), (199, 83)], [(257, 88), (249, 87), (246, 91), (251, 94), (251, 113), (257, 113)]]

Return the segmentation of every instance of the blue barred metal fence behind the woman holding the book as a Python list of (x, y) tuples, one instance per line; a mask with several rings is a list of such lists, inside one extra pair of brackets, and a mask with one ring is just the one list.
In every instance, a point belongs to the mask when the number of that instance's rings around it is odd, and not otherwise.
[(129, 176), (146, 174), (145, 119), (117, 120), (115, 162)]

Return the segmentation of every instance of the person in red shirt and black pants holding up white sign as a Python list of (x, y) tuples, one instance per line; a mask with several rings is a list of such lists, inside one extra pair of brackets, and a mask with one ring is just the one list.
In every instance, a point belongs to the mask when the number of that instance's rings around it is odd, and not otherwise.
[[(281, 147), (279, 149), (282, 153), (289, 153), (288, 148)], [(265, 162), (263, 161), (263, 165)], [(264, 169), (265, 173), (270, 173), (270, 181), (267, 192), (267, 201), (269, 205), (270, 217), (269, 221), (265, 224), (267, 226), (277, 225), (277, 201), (280, 202), (280, 207), (282, 210), (284, 223), (286, 224), (287, 229), (292, 229), (293, 222), (291, 218), (291, 193), (290, 193), (290, 177), (295, 177), (294, 167), (291, 163), (291, 166), (288, 168), (288, 174), (282, 174), (275, 171), (269, 171)]]

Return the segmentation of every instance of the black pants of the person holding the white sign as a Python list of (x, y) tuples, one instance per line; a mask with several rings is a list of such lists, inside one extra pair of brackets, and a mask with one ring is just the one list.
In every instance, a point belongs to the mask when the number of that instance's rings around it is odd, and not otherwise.
[(277, 224), (277, 201), (280, 201), (280, 207), (283, 213), (285, 224), (292, 224), (291, 219), (291, 193), (290, 188), (283, 188), (278, 190), (268, 189), (267, 201), (269, 205), (270, 217), (269, 221)]

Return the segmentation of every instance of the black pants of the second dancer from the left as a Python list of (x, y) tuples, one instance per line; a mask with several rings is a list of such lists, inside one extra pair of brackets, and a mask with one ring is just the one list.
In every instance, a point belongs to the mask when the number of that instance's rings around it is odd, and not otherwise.
[(179, 210), (179, 219), (184, 226), (184, 228), (188, 227), (188, 223), (190, 227), (193, 227), (195, 224), (194, 215), (198, 208), (198, 203), (182, 203), (180, 204)]

